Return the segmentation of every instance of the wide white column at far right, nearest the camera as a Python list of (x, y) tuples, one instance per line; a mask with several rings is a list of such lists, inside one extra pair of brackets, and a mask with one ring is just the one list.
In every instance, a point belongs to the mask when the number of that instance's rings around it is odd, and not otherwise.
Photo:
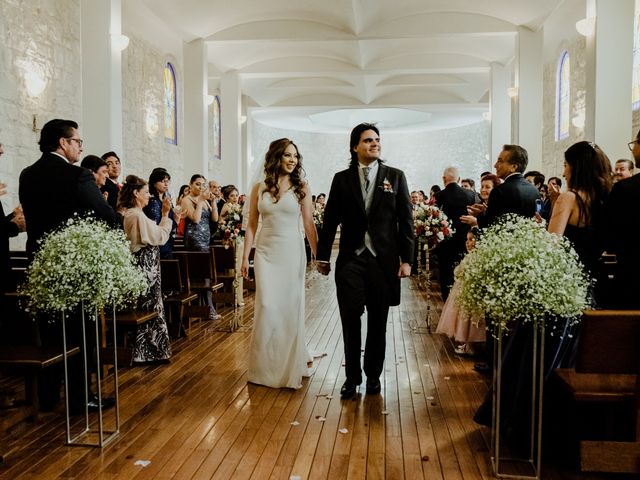
[(615, 161), (629, 158), (631, 131), (631, 82), (634, 0), (596, 0), (596, 32), (593, 42), (593, 85), (587, 85), (586, 140), (594, 140)]

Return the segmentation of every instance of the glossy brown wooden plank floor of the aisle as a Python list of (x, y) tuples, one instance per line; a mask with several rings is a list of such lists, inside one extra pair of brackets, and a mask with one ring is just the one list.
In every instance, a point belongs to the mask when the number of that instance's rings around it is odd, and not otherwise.
[[(425, 319), (426, 294), (415, 278), (403, 281), (403, 302), (391, 309), (382, 394), (349, 401), (340, 400), (333, 279), (312, 273), (307, 283), (309, 348), (325, 355), (300, 390), (247, 384), (249, 297), (239, 331), (200, 322), (174, 342), (169, 365), (121, 369), (122, 428), (113, 443), (65, 446), (62, 413), (44, 414), (3, 438), (10, 453), (0, 479), (493, 478), (489, 432), (472, 420), (487, 379), (449, 340), (409, 327)], [(435, 329), (441, 301), (434, 297)], [(230, 315), (224, 311), (223, 321)], [(608, 477), (546, 468), (543, 478)]]

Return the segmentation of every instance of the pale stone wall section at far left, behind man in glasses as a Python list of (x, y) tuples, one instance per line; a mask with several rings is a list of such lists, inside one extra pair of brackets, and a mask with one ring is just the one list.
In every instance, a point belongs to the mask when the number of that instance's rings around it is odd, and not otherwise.
[[(34, 115), (37, 127), (52, 118), (82, 122), (80, 2), (3, 0), (0, 18), (0, 182), (8, 186), (1, 201), (9, 212), (18, 203), (20, 172), (40, 157)], [(27, 92), (29, 72), (47, 79), (37, 97)], [(25, 241), (19, 235), (12, 248)]]

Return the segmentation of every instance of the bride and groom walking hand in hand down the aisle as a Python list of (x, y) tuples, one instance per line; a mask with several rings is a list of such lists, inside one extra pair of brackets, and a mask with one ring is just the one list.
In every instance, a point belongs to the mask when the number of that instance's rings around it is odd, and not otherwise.
[[(255, 239), (254, 331), (249, 382), (273, 388), (300, 388), (312, 357), (306, 347), (304, 234), (323, 275), (330, 272), (331, 247), (338, 225), (336, 291), (342, 322), (346, 381), (343, 399), (355, 396), (366, 375), (366, 393), (380, 392), (389, 307), (400, 303), (400, 278), (411, 273), (413, 216), (404, 173), (380, 160), (380, 132), (360, 124), (350, 137), (349, 167), (331, 185), (318, 238), (309, 185), (302, 178), (302, 157), (283, 138), (271, 143), (263, 182), (251, 191), (242, 273), (249, 271)], [(262, 227), (256, 238), (258, 218)], [(300, 227), (302, 224), (303, 228)], [(364, 365), (361, 366), (361, 317), (367, 310)]]

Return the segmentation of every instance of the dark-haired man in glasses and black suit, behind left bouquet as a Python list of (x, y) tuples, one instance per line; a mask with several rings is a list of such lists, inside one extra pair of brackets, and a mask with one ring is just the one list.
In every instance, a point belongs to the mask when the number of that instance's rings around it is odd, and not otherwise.
[[(82, 154), (82, 139), (78, 124), (72, 120), (55, 119), (47, 122), (40, 131), (42, 156), (20, 174), (20, 203), (27, 223), (27, 253), (36, 252), (38, 240), (61, 227), (76, 214), (93, 214), (107, 223), (117, 226), (119, 218), (105, 201), (96, 185), (93, 174), (75, 163)], [(42, 192), (55, 186), (55, 193), (43, 200)], [(43, 344), (61, 346), (60, 325), (43, 322)], [(81, 324), (74, 317), (67, 324), (67, 338), (72, 345), (81, 345)], [(81, 355), (69, 362), (69, 406), (71, 413), (84, 410), (83, 369)], [(43, 409), (52, 409), (60, 397), (61, 371), (57, 375), (44, 370), (40, 377), (38, 393)], [(95, 401), (95, 400), (91, 400)], [(91, 401), (89, 406), (91, 406)], [(106, 406), (103, 404), (103, 407)]]

